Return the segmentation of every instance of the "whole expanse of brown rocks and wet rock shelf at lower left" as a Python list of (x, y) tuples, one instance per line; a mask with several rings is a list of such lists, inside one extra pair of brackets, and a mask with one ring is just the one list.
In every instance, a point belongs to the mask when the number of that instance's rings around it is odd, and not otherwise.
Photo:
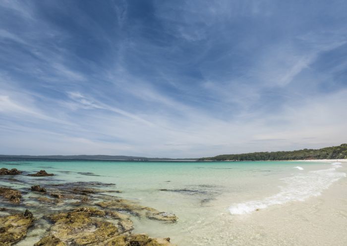
[[(29, 180), (35, 182), (33, 179)], [(169, 238), (154, 239), (145, 234), (133, 235), (133, 222), (130, 218), (135, 215), (173, 223), (177, 217), (132, 200), (115, 197), (114, 194), (105, 194), (111, 189), (102, 190), (105, 186), (115, 184), (74, 182), (52, 185), (48, 182), (44, 186), (47, 190), (40, 185), (33, 185), (31, 190), (37, 193), (30, 193), (32, 197), (24, 197), (21, 202), (25, 207), (39, 209), (40, 213), (45, 214), (43, 218), (51, 222), (47, 223), (48, 228), (42, 232), (43, 238), (37, 240), (34, 246), (173, 246)], [(21, 193), (0, 188), (0, 196), (19, 202)], [(72, 209), (73, 207), (77, 208)], [(52, 213), (58, 209), (58, 213)], [(0, 246), (11, 246), (26, 237), (27, 228), (33, 224), (33, 214), (28, 210), (20, 214), (15, 209), (6, 209), (4, 213), (13, 215), (0, 217)], [(28, 242), (25, 240), (21, 243), (33, 245), (32, 239), (27, 240)]]

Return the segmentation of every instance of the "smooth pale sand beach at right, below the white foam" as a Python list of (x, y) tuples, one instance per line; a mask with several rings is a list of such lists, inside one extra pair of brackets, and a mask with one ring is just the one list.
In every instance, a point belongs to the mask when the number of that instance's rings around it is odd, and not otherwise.
[[(336, 162), (336, 159), (325, 161)], [(347, 173), (347, 166), (342, 165), (339, 172)], [(237, 220), (241, 225), (237, 233), (246, 238), (253, 237), (258, 242), (248, 243), (243, 238), (239, 240), (249, 246), (344, 246), (347, 242), (346, 188), (347, 179), (341, 178), (322, 191), (320, 196), (268, 207), (251, 216), (243, 216)], [(244, 232), (252, 231), (253, 228), (257, 228), (254, 233)]]

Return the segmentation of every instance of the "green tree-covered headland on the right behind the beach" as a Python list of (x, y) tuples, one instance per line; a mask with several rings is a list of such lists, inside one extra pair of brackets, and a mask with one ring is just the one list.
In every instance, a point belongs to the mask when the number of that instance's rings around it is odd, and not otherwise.
[(244, 154), (222, 154), (203, 157), (198, 160), (304, 160), (304, 159), (347, 159), (347, 144), (320, 149), (301, 149), (294, 151), (253, 152)]

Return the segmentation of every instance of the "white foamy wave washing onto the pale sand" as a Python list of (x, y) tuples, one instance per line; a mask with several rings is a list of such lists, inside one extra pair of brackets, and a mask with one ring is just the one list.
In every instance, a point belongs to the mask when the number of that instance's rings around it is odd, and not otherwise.
[(280, 193), (262, 200), (236, 203), (229, 208), (231, 214), (251, 213), (271, 205), (284, 204), (290, 201), (303, 201), (308, 197), (319, 196), (331, 184), (346, 177), (346, 173), (338, 172), (340, 162), (332, 163), (333, 167), (323, 170), (310, 171), (293, 177), (283, 178), (286, 186), (281, 186)]

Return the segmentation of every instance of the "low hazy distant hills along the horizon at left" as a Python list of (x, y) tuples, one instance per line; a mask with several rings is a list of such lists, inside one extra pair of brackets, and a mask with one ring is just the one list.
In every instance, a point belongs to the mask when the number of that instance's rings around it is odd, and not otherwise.
[(74, 159), (74, 160), (142, 160), (142, 161), (163, 161), (163, 160), (197, 160), (196, 158), (149, 158), (126, 155), (4, 155), (0, 158), (40, 158), (40, 159)]

